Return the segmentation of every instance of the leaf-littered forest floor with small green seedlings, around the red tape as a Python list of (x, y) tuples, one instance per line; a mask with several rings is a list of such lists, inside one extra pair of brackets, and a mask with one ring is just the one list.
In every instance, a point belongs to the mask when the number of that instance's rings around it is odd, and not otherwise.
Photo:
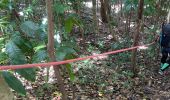
[[(131, 46), (128, 39), (122, 43), (113, 42), (112, 35), (107, 32), (86, 35), (84, 40), (77, 36), (76, 40), (80, 47), (79, 56)], [(75, 82), (70, 82), (67, 73), (63, 73), (66, 76), (67, 85), (65, 86), (69, 98), (74, 100), (169, 100), (170, 74), (166, 76), (158, 74), (161, 56), (157, 47), (155, 44), (149, 47), (152, 49), (138, 50), (137, 77), (133, 77), (130, 66), (130, 51), (72, 63), (76, 75)], [(50, 71), (47, 82), (44, 70), (41, 69), (37, 73), (36, 82), (24, 81), (28, 95), (27, 97), (17, 95), (17, 100), (55, 100), (54, 98), (60, 96), (53, 71)]]

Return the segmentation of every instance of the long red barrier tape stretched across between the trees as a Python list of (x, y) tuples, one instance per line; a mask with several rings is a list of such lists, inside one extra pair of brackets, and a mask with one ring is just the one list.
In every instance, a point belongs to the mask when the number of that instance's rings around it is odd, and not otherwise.
[(140, 47), (147, 47), (147, 46), (152, 45), (154, 43), (155, 43), (155, 41), (150, 43), (150, 44), (146, 44), (146, 45), (134, 46), (134, 47), (130, 47), (130, 48), (105, 52), (105, 53), (102, 53), (102, 54), (96, 54), (96, 55), (86, 56), (86, 57), (81, 57), (81, 58), (76, 58), (76, 59), (64, 60), (64, 61), (35, 63), (35, 64), (23, 64), (23, 65), (5, 65), (5, 66), (0, 66), (0, 70), (16, 70), (16, 69), (23, 69), (23, 68), (50, 67), (52, 65), (62, 65), (62, 64), (67, 64), (67, 63), (71, 63), (71, 62), (95, 58), (95, 57), (98, 57), (98, 56), (105, 56), (105, 55), (116, 54), (116, 53), (120, 53), (120, 52), (124, 52), (124, 51), (130, 51), (130, 50), (134, 50), (134, 49), (137, 49), (137, 48), (140, 48)]

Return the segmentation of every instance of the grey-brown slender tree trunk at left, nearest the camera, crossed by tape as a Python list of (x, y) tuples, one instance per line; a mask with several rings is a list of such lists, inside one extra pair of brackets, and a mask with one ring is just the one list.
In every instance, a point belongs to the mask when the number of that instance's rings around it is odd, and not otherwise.
[[(54, 49), (54, 21), (52, 12), (53, 0), (46, 0), (47, 17), (48, 17), (48, 53), (50, 61), (56, 61)], [(55, 76), (58, 81), (59, 89), (62, 93), (62, 100), (67, 100), (67, 93), (64, 87), (64, 81), (60, 74), (59, 66), (54, 66)]]

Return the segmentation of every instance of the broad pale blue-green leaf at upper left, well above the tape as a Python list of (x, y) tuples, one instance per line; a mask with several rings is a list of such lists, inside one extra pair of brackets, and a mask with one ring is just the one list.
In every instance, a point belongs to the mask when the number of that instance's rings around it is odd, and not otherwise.
[(25, 21), (20, 28), (29, 37), (35, 37), (35, 32), (39, 29), (39, 26), (32, 21)]

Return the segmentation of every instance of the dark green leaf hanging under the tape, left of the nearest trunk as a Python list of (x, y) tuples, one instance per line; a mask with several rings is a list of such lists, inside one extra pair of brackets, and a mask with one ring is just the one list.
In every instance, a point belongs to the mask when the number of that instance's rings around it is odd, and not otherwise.
[(16, 70), (18, 74), (24, 77), (28, 81), (35, 82), (36, 78), (36, 70), (35, 68), (27, 68), (27, 69), (18, 69)]

